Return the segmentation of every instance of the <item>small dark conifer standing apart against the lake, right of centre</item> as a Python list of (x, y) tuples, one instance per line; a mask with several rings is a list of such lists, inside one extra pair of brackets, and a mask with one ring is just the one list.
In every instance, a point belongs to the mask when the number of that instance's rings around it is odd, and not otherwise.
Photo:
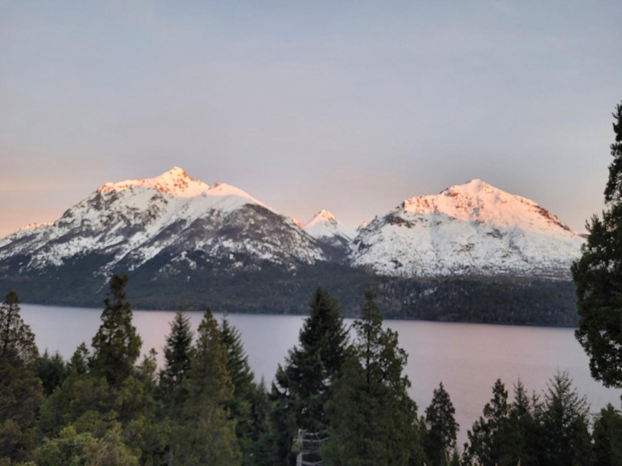
[(456, 445), (458, 423), (453, 418), (455, 413), (449, 393), (440, 383), (432, 394), (432, 403), (425, 409), (424, 447), (429, 466), (444, 465), (448, 451)]

